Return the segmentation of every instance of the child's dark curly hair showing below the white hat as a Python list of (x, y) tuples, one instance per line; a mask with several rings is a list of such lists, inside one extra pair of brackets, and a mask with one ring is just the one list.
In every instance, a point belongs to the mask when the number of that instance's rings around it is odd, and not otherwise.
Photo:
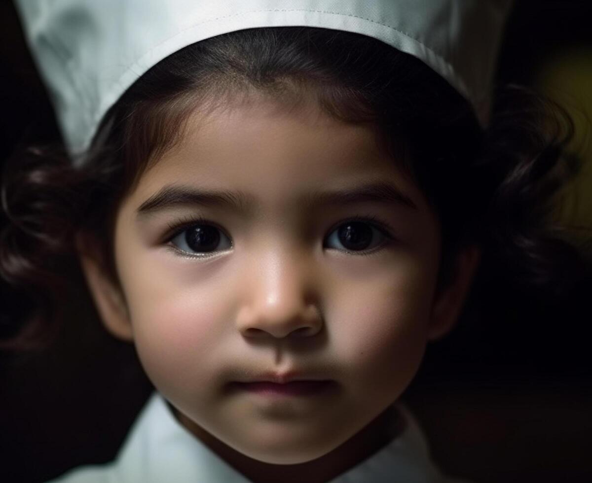
[[(378, 126), (393, 162), (439, 217), (439, 287), (468, 244), (482, 247), (471, 298), (484, 306), (561, 300), (589, 276), (572, 231), (552, 216), (562, 187), (580, 170), (578, 158), (565, 154), (573, 125), (559, 106), (508, 86), (482, 129), (442, 77), (381, 41), (324, 28), (254, 28), (192, 44), (152, 67), (107, 113), (82, 167), (72, 166), (63, 145), (9, 158), (0, 275), (26, 303), (5, 317), (5, 348), (56, 333), (80, 270), (77, 233), (91, 235), (119, 285), (112, 245), (124, 195), (182, 138), (195, 109), (252, 92), (287, 109), (313, 96), (333, 118)], [(409, 155), (394, 155), (401, 149)]]

